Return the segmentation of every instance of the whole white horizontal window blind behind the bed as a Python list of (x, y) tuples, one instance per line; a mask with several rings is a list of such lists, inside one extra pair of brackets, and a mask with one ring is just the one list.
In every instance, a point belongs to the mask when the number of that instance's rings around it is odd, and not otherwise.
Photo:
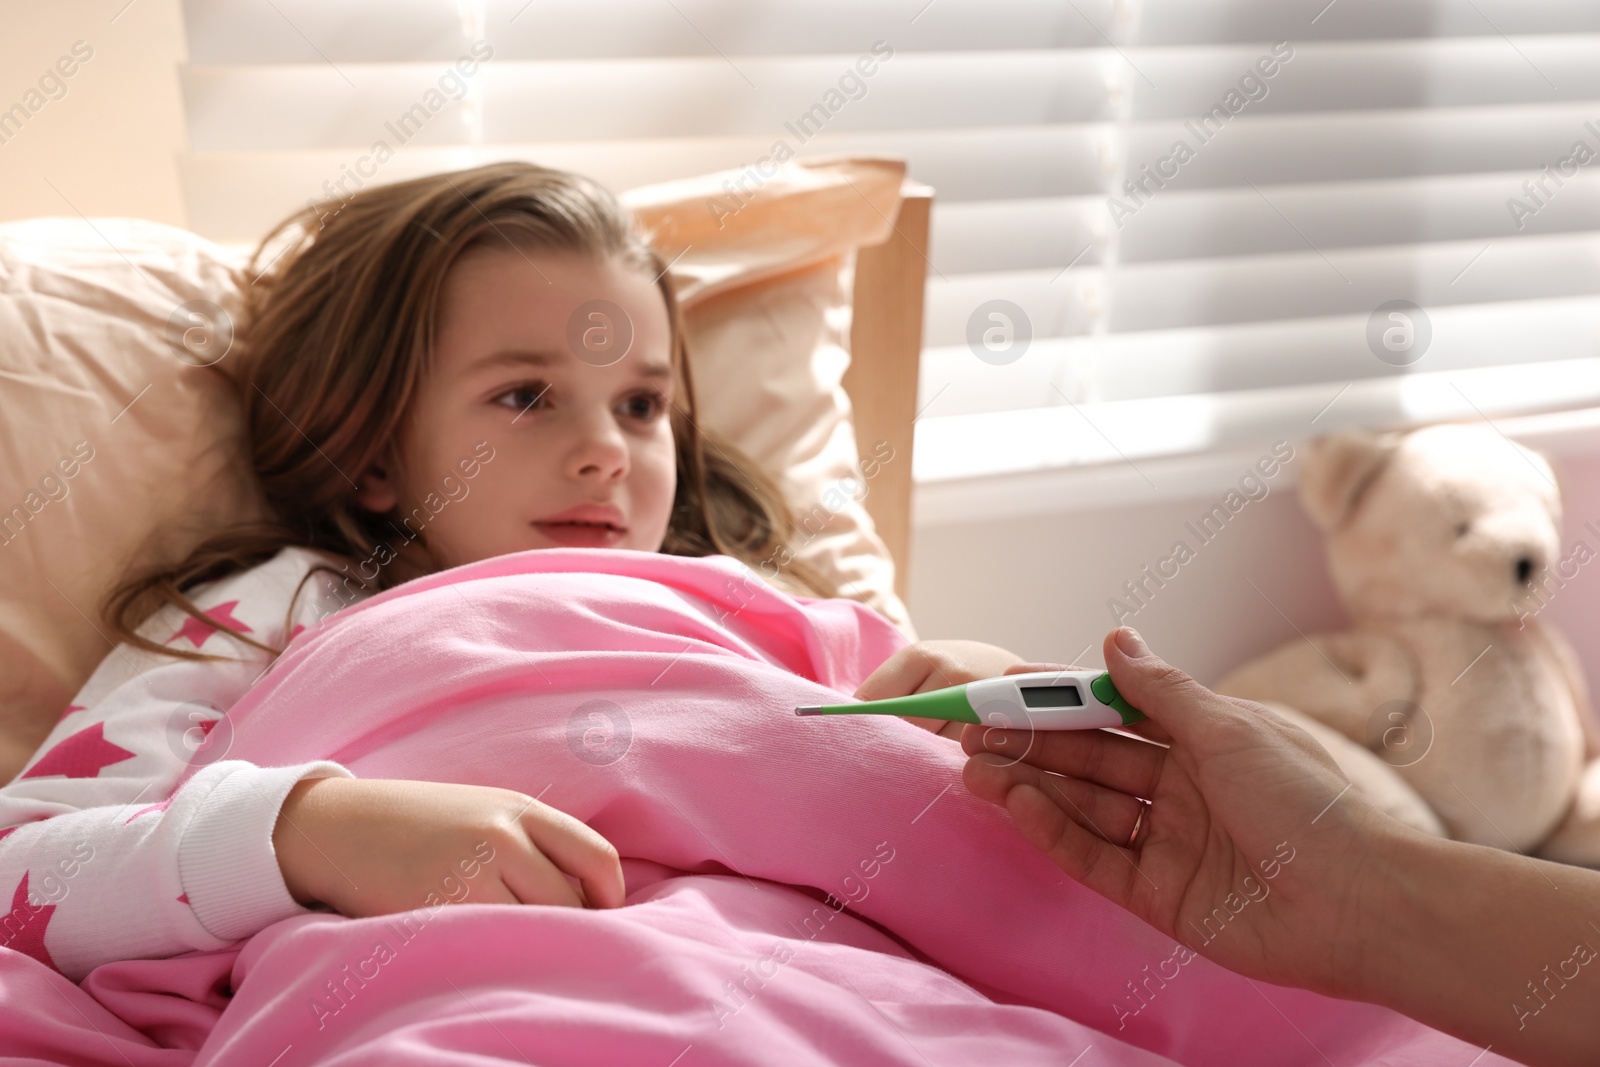
[(938, 194), (918, 482), (1600, 403), (1600, 5), (187, 0), (186, 26), (189, 218), (224, 242), (490, 158), (621, 190), (906, 155)]

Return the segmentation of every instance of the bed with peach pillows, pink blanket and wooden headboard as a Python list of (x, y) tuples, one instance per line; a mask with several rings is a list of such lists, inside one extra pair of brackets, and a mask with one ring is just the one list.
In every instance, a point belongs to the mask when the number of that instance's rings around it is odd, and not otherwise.
[[(726, 558), (498, 557), (312, 627), (227, 717), (229, 758), (315, 755), (539, 795), (618, 846), (629, 905), (477, 905), (467, 886), (445, 907), (302, 915), (82, 982), (8, 933), (0, 1062), (1470, 1062), (1477, 1049), (1381, 1008), (1203, 958), (1152, 973), (1171, 941), (966, 795), (947, 739), (792, 715), (848, 694), (910, 635), (896, 590), (931, 194), (898, 162), (818, 163), (774, 181), (712, 246), (694, 208), (720, 182), (627, 202), (677, 254), (707, 360), (696, 378), (717, 382), (706, 419), (818, 517), (805, 547), (850, 598), (750, 585)], [(134, 224), (90, 229), (0, 227), (0, 501), (27, 510), (0, 553), (13, 771), (106, 651), (93, 622), (106, 576), (254, 506), (229, 451), (226, 378), (189, 373), (226, 358), (195, 360), (165, 333), (171, 304), (211, 301), (226, 322), (238, 285), (226, 256)], [(131, 296), (144, 285), (162, 299)], [(83, 309), (86, 326), (72, 318)], [(762, 331), (802, 341), (760, 363)], [(104, 419), (96, 458), (43, 491), (38, 472), (75, 445), (70, 411)], [(893, 458), (869, 475), (869, 453)], [(850, 480), (866, 483), (859, 499), (827, 496)], [(451, 635), (469, 632), (464, 657)]]

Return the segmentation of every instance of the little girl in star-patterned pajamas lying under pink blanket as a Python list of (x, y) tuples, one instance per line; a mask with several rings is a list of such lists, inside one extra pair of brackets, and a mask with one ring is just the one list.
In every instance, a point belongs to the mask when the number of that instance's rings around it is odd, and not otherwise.
[[(774, 485), (696, 426), (666, 264), (597, 184), (499, 163), (307, 208), (250, 275), (230, 370), (270, 520), (114, 590), (122, 645), (0, 789), (0, 945), (82, 979), (307, 907), (421, 907), (435, 857), (475, 856), (470, 902), (619, 905), (616, 851), (531, 797), (227, 760), (226, 712), (296, 633), (421, 574), (557, 545), (754, 566), (784, 544)], [(779, 581), (837, 592), (800, 561)], [(923, 643), (861, 694), (1013, 662)]]

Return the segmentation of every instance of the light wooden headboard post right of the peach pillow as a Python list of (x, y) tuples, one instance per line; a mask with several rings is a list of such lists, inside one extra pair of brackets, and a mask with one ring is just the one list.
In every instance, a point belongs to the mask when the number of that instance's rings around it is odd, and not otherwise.
[(928, 213), (933, 189), (907, 181), (894, 232), (856, 253), (845, 392), (854, 410), (856, 446), (894, 450), (867, 485), (866, 509), (894, 557), (894, 592), (906, 598), (910, 573), (910, 456), (922, 366), (922, 299), (928, 280)]

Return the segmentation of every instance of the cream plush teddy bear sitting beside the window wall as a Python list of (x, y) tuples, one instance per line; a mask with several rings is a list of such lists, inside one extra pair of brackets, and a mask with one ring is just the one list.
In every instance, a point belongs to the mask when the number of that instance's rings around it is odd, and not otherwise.
[(1538, 617), (1594, 552), (1560, 558), (1544, 458), (1488, 424), (1341, 432), (1312, 442), (1301, 502), (1352, 625), (1218, 691), (1306, 728), (1411, 827), (1600, 867), (1600, 728), (1576, 656)]

